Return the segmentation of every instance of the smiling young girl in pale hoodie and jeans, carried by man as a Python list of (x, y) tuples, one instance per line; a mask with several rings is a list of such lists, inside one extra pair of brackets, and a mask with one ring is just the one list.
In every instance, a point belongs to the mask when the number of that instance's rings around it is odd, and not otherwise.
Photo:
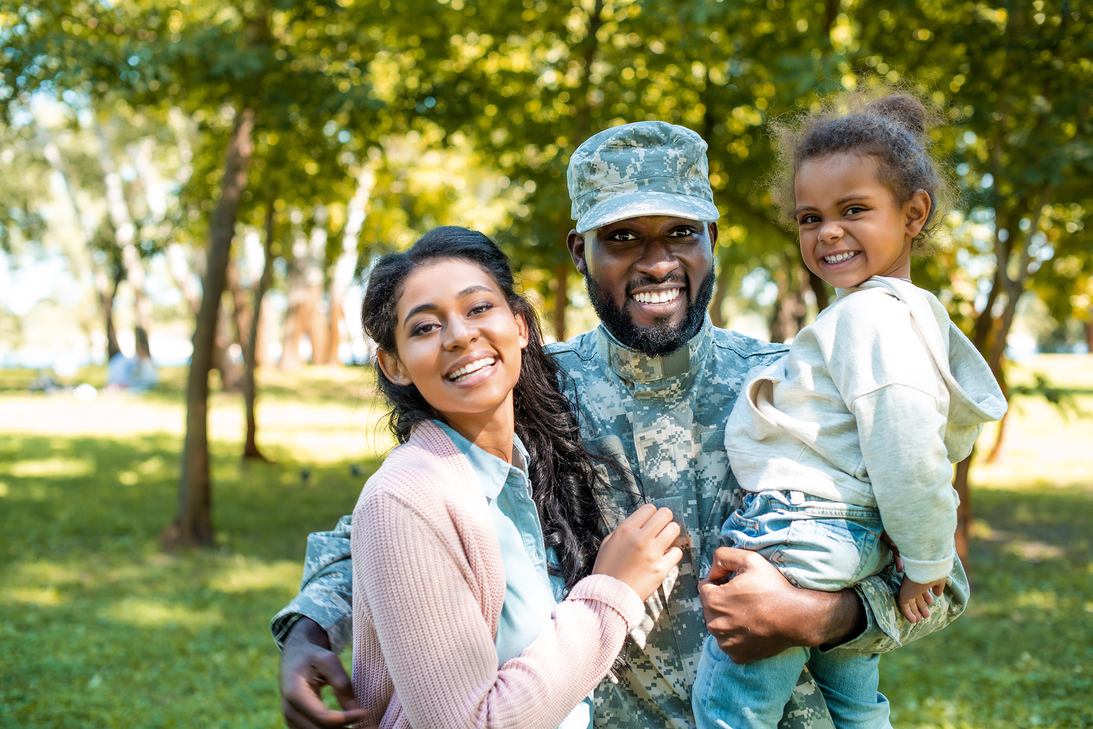
[[(748, 495), (721, 531), (794, 585), (830, 591), (886, 565), (888, 532), (913, 623), (953, 568), (951, 462), (1006, 412), (986, 362), (910, 282), (942, 187), (926, 121), (919, 102), (890, 95), (807, 115), (781, 134), (788, 179), (776, 198), (804, 263), (838, 297), (744, 385), (725, 439)], [(806, 662), (836, 727), (890, 726), (878, 656), (794, 648), (736, 666), (707, 638), (692, 694), (698, 727), (775, 727)]]

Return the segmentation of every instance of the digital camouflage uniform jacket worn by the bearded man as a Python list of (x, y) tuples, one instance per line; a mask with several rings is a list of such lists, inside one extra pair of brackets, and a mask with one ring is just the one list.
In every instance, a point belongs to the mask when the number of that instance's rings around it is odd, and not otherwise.
[[(623, 649), (628, 670), (618, 684), (597, 689), (595, 725), (611, 729), (693, 727), (690, 689), (706, 636), (697, 583), (709, 572), (720, 545), (721, 524), (742, 494), (729, 470), (725, 422), (748, 372), (781, 356), (786, 348), (717, 329), (707, 318), (687, 346), (649, 357), (620, 344), (603, 328), (550, 348), (568, 375), (589, 448), (628, 465), (609, 473), (601, 507), (607, 529), (636, 503), (665, 505), (681, 517), (691, 539), (674, 579), (647, 602), (646, 620)], [(270, 624), (280, 643), (299, 615), (330, 635), (334, 650), (352, 634), (350, 517), (332, 532), (308, 537), (301, 593)], [(856, 587), (866, 607), (867, 627), (843, 648), (884, 652), (943, 627), (964, 610), (967, 583), (957, 564), (930, 618), (912, 625), (893, 600), (898, 577), (892, 572)], [(780, 727), (832, 727), (826, 706), (802, 674)]]

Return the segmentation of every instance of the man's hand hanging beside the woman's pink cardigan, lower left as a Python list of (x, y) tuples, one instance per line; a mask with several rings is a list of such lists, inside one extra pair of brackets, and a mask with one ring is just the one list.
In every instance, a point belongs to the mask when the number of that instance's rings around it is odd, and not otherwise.
[[(301, 618), (289, 631), (281, 652), (281, 713), (290, 729), (334, 729), (362, 719), (376, 724), (359, 708), (353, 685), (337, 654), (330, 651), (326, 632), (309, 618)], [(342, 712), (326, 707), (322, 686), (333, 689)]]

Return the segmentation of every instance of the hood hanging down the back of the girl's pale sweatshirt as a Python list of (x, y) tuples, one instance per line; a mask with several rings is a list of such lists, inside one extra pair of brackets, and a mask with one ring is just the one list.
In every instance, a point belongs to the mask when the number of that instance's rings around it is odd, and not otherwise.
[[(1008, 404), (986, 360), (949, 318), (938, 297), (902, 279), (872, 277), (858, 289), (883, 287), (910, 307), (915, 326), (949, 388), (945, 446), (950, 461), (964, 460), (985, 423), (1001, 419)], [(959, 456), (959, 457), (957, 457)]]

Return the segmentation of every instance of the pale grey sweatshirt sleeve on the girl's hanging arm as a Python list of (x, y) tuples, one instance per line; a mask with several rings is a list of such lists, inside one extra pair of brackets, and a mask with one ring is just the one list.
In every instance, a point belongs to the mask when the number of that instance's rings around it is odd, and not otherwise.
[(945, 418), (932, 396), (905, 385), (862, 395), (853, 410), (877, 507), (906, 575), (916, 583), (945, 577), (956, 530)]

